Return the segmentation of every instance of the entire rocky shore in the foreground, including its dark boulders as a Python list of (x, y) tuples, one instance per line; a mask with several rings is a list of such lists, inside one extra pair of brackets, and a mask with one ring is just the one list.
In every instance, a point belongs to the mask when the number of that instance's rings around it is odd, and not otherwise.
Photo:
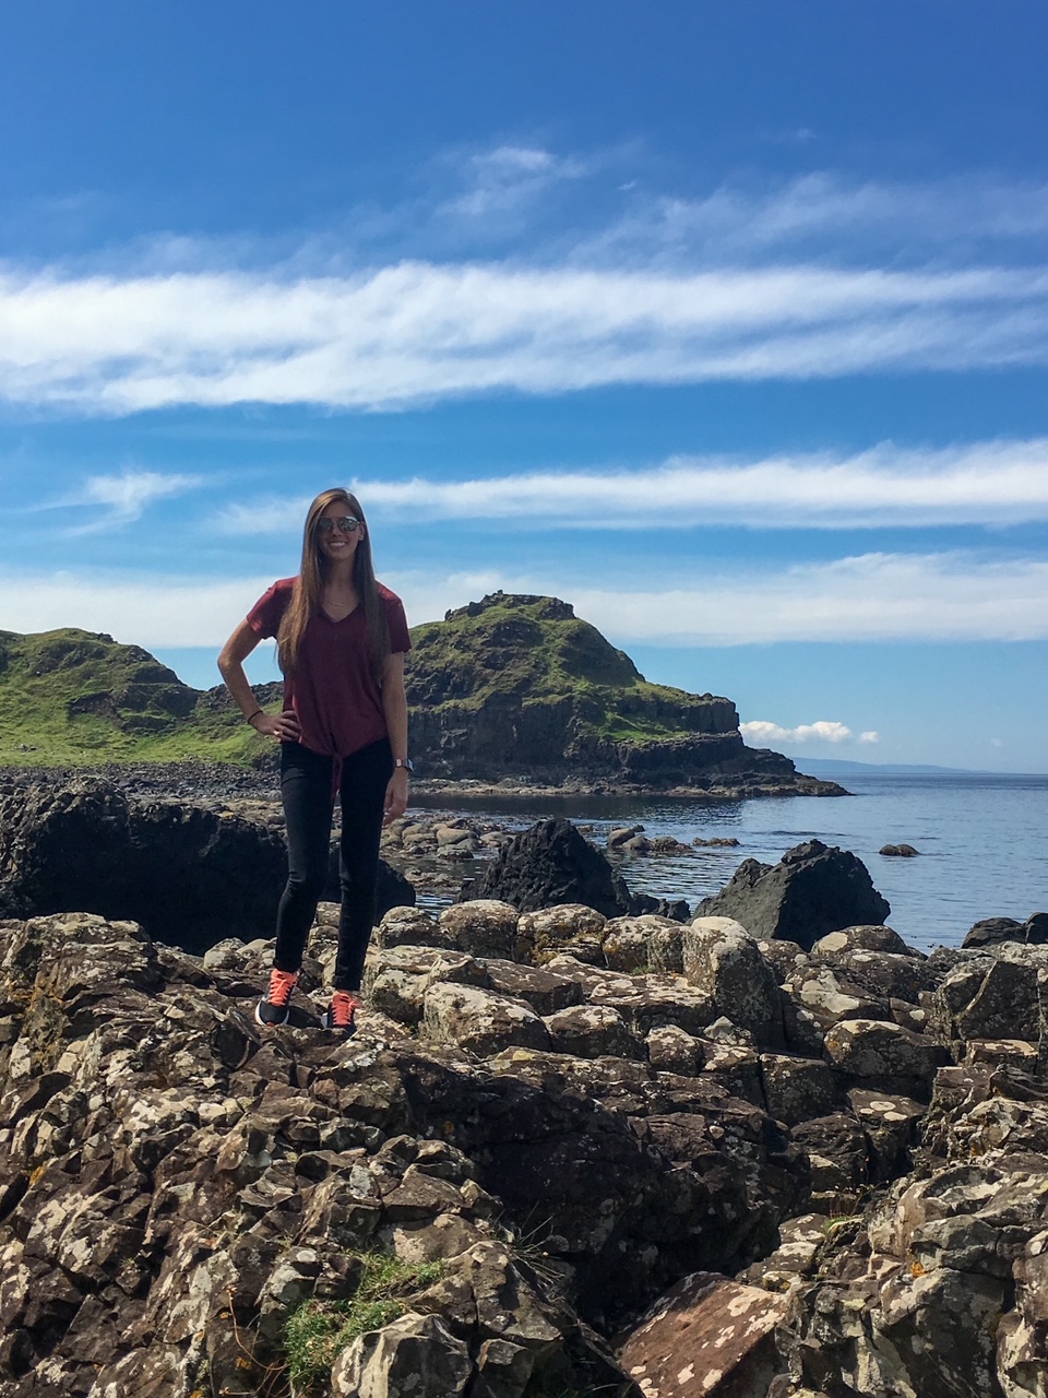
[[(200, 878), (265, 829), (35, 791), (4, 871), (92, 812)], [(351, 1042), (334, 905), (275, 1030), (265, 937), (0, 923), (3, 1398), (1040, 1398), (1044, 914), (925, 956), (817, 842), (623, 913), (544, 825), (386, 911)]]

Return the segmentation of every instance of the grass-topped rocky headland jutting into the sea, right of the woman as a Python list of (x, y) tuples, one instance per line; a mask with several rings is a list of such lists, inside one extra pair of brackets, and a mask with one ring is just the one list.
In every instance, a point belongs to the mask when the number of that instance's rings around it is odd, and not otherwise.
[(746, 748), (729, 699), (648, 684), (569, 603), (493, 593), (412, 630), (422, 776), (841, 794)]

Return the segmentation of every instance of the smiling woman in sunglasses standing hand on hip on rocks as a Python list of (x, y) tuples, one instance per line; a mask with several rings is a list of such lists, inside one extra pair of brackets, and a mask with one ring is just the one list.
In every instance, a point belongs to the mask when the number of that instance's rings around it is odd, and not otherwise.
[[(284, 712), (264, 713), (243, 661), (277, 637)], [(218, 668), (245, 720), (281, 744), (288, 884), (277, 911), (277, 953), (256, 1008), (282, 1025), (306, 938), (327, 882), (331, 812), (342, 802), (342, 911), (330, 1029), (356, 1029), (361, 976), (374, 918), (383, 821), (408, 804), (408, 706), (404, 653), (411, 649), (398, 597), (374, 579), (367, 523), (348, 491), (321, 491), (306, 516), (302, 570), (261, 597), (225, 643)]]

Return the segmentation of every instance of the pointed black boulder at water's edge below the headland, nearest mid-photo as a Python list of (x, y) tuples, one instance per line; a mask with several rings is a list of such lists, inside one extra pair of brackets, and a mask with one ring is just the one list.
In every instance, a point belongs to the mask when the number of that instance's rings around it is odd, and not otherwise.
[(559, 903), (584, 903), (605, 917), (661, 913), (687, 917), (687, 905), (667, 905), (644, 893), (633, 895), (608, 860), (570, 821), (539, 821), (499, 850), (483, 874), (463, 888), (461, 902), (497, 898), (520, 913), (537, 913)]

